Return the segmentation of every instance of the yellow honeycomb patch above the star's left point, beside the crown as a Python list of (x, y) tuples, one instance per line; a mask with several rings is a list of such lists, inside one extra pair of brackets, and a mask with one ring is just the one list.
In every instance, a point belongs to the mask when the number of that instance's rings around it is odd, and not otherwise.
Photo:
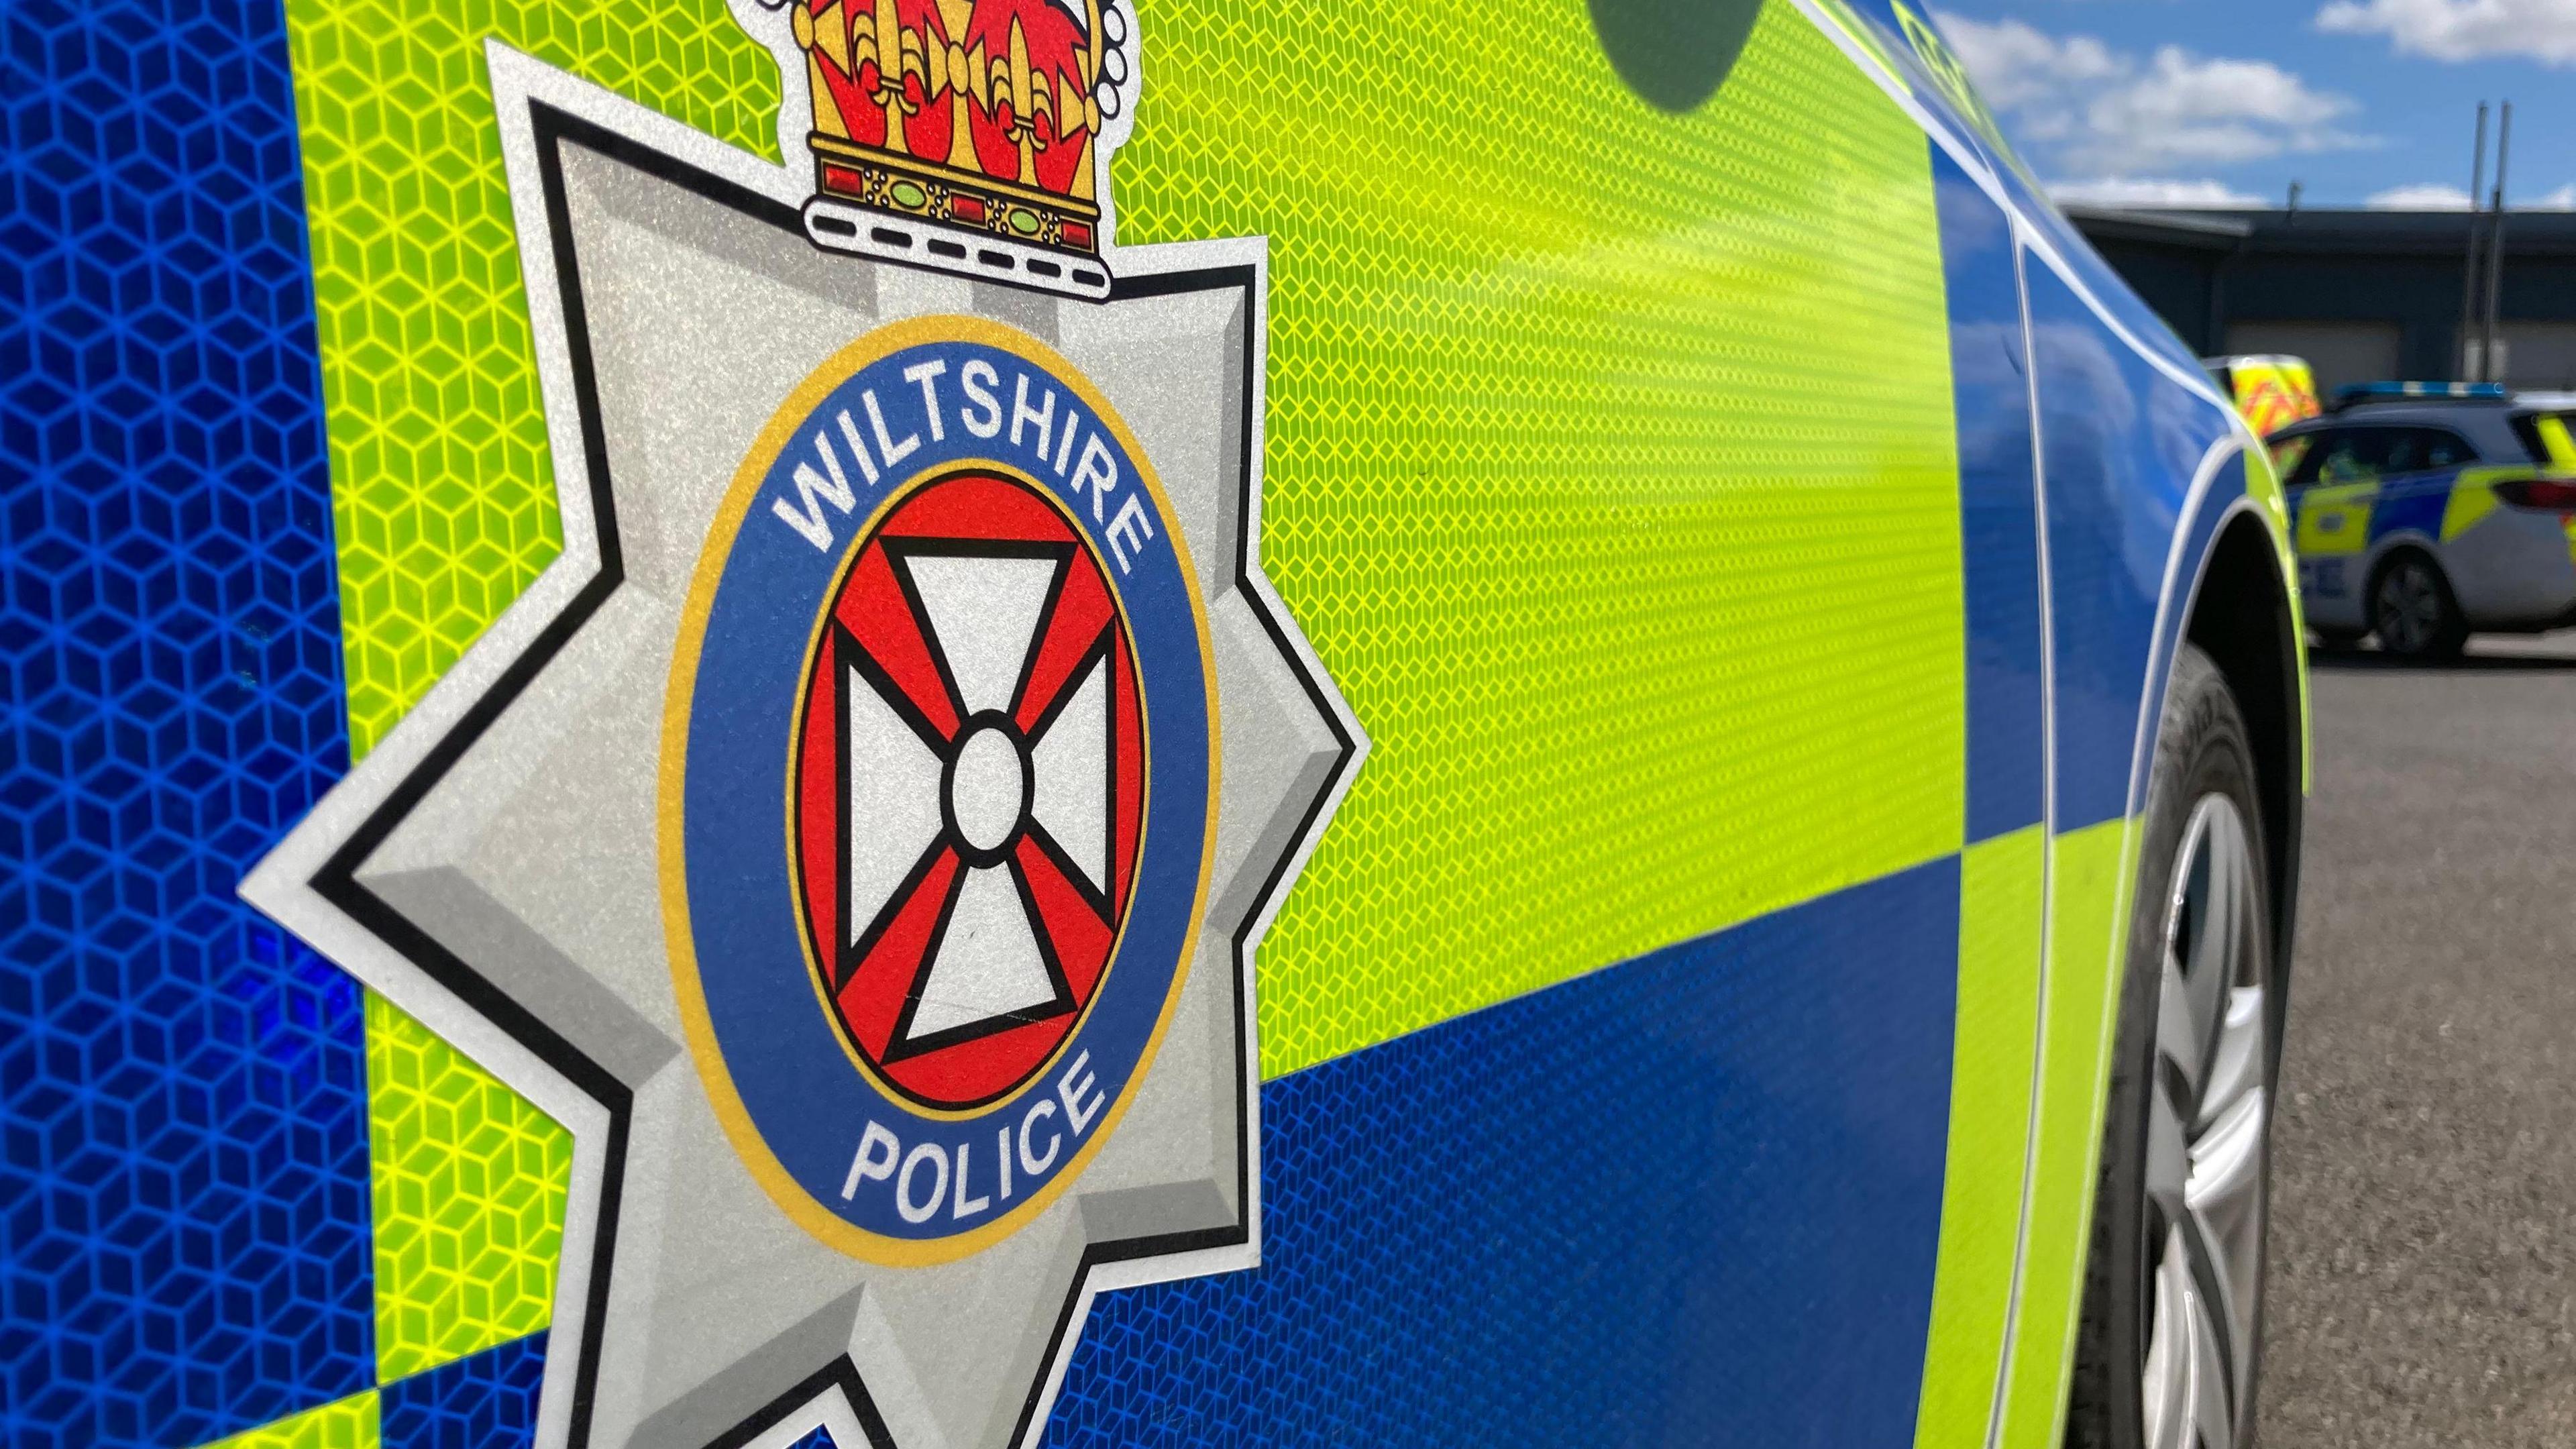
[(744, 150), (778, 67), (721, 0), (289, 0), (366, 753), (562, 547), (484, 39)]

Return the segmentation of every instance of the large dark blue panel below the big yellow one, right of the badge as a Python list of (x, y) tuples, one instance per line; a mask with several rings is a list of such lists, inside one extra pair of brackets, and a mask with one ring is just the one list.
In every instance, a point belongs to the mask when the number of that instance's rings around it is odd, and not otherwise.
[(1046, 1441), (1906, 1444), (1958, 859), (1262, 1088), (1262, 1266), (1103, 1294)]

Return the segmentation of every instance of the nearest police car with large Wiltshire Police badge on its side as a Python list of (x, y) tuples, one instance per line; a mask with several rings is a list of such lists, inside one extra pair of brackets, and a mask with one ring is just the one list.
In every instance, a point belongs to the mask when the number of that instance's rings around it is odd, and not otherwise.
[(1911, 0), (8, 46), (8, 1444), (2249, 1431), (2290, 513)]

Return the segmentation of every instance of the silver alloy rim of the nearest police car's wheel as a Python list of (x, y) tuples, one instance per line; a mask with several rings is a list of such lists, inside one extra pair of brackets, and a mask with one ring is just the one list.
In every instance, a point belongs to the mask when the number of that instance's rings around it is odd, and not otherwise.
[(2233, 1449), (2262, 1307), (2272, 1116), (2262, 895), (2246, 822), (2202, 797), (2174, 856), (2146, 1124), (2148, 1449)]

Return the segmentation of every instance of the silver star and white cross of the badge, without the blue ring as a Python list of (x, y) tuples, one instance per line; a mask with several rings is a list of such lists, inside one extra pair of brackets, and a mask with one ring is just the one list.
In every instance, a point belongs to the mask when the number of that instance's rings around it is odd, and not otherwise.
[[(804, 183), (489, 46), (562, 557), (307, 817), (242, 895), (574, 1134), (541, 1444), (701, 1446), (824, 1423), (845, 1449), (1005, 1446), (1046, 1423), (1100, 1289), (1260, 1261), (1252, 946), (1365, 740), (1260, 572), (1265, 248), (1126, 248), (1108, 302), (832, 255)], [(693, 1067), (657, 841), (665, 691), (719, 498), (837, 348), (981, 317), (1069, 358), (1126, 418), (1188, 536), (1221, 722), (1206, 918), (1159, 1055), (1041, 1212), (933, 1266), (824, 1243), (755, 1181)], [(1028, 670), (1056, 565), (907, 559), (976, 719)], [(930, 841), (992, 861), (1043, 833), (1113, 869), (1105, 676), (1043, 730), (938, 748), (881, 681), (845, 701), (845, 918)], [(958, 871), (891, 1049), (1059, 1006), (1010, 869)], [(855, 926), (853, 926), (855, 928)]]

